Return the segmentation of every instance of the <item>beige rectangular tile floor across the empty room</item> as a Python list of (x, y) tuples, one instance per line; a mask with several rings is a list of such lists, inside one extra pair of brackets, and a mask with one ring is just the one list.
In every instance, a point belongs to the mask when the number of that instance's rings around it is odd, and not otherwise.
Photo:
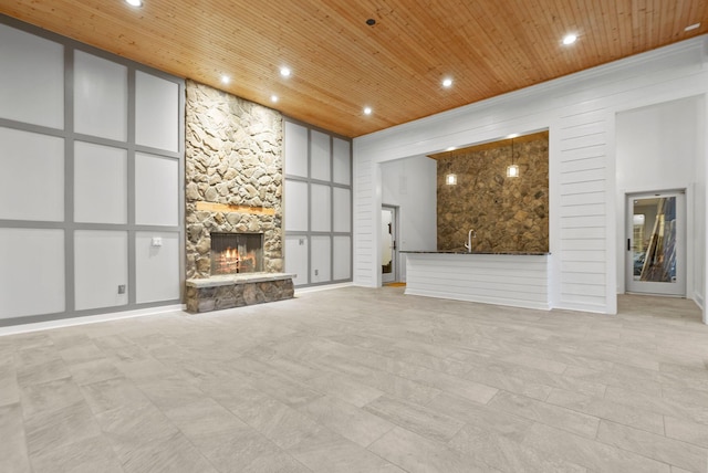
[(346, 287), (0, 337), (0, 471), (708, 471), (708, 327)]

